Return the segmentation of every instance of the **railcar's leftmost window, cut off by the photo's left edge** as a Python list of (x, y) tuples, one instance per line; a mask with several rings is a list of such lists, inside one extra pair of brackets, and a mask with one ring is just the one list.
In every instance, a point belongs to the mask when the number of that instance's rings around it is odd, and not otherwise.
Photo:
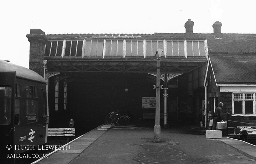
[(0, 124), (11, 123), (12, 87), (0, 86)]

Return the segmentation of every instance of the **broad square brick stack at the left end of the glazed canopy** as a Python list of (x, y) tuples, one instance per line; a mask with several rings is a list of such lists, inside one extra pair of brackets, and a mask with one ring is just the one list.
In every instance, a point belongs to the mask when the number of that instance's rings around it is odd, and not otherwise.
[(44, 77), (44, 45), (47, 41), (42, 30), (30, 30), (26, 37), (30, 42), (29, 69)]

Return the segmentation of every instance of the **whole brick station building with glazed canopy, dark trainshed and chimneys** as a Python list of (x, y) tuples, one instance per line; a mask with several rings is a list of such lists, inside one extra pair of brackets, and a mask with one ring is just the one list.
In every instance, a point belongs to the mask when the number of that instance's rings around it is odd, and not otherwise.
[[(29, 69), (48, 81), (49, 127), (65, 127), (73, 119), (75, 127), (86, 128), (103, 123), (114, 110), (133, 120), (154, 119), (159, 48), (169, 122), (202, 121), (206, 127), (219, 101), (225, 112), (256, 116), (256, 34), (223, 34), (219, 21), (211, 34), (193, 33), (193, 26), (188, 19), (182, 34), (45, 35), (30, 30)], [(250, 102), (234, 99), (241, 94)], [(163, 119), (164, 97), (160, 103)]]

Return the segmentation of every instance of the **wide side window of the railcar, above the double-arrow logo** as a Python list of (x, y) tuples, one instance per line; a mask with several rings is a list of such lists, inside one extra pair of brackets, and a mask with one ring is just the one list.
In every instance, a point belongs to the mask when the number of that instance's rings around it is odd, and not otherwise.
[(26, 98), (27, 98), (27, 122), (33, 123), (37, 121), (37, 110), (38, 110), (38, 95), (37, 87), (27, 86), (26, 87)]

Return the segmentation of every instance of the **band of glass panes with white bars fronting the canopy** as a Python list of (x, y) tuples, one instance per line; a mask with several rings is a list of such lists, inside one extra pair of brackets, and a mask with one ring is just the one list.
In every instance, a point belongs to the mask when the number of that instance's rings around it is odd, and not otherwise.
[(164, 50), (164, 57), (207, 56), (206, 40), (146, 40), (146, 39), (101, 39), (101, 40), (52, 40), (48, 41), (45, 56), (61, 57), (149, 57), (156, 50)]

